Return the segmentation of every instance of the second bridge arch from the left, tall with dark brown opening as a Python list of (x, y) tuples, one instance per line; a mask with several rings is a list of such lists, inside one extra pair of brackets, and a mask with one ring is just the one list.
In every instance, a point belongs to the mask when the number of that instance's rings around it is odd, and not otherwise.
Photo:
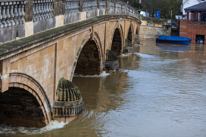
[(100, 37), (96, 32), (93, 36), (91, 35), (92, 33), (86, 36), (79, 47), (73, 66), (73, 74), (98, 75), (103, 71), (103, 52)]

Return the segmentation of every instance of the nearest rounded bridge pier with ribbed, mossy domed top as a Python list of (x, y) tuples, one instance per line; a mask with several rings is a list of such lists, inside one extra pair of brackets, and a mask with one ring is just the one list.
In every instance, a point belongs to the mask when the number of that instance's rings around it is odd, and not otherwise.
[(57, 101), (53, 106), (54, 120), (69, 122), (71, 117), (83, 111), (84, 102), (77, 86), (69, 80), (61, 78), (56, 91)]

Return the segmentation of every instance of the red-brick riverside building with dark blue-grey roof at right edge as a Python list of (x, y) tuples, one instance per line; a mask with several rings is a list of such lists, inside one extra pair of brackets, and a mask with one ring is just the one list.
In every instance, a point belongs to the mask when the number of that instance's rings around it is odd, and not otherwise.
[(192, 39), (192, 44), (206, 44), (206, 2), (187, 7), (184, 10), (187, 20), (180, 21), (179, 35)]

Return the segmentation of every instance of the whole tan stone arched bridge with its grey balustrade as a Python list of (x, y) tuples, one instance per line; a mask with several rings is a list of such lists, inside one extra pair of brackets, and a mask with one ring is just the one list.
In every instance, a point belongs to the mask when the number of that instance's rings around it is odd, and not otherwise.
[(116, 70), (140, 24), (121, 1), (0, 0), (0, 122), (43, 127), (81, 113), (74, 74)]

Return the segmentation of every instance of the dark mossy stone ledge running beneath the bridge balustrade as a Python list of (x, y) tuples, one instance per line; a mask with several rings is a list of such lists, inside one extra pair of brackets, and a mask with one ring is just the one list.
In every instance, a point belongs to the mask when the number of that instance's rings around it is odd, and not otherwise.
[[(88, 20), (84, 20), (84, 21), (80, 21), (80, 22), (76, 22), (72, 24), (67, 24), (62, 27), (46, 30), (44, 32), (40, 32), (40, 33), (34, 34), (29, 37), (25, 37), (19, 40), (10, 41), (10, 42), (1, 44), (0, 45), (0, 60), (14, 56), (15, 54), (22, 52), (22, 50), (23, 51), (28, 50), (30, 47), (34, 45), (38, 46), (40, 44), (53, 41), (59, 37), (62, 37), (62, 36), (74, 33), (78, 30), (90, 27), (93, 24), (98, 24), (102, 21), (107, 21), (110, 19), (119, 19), (119, 18), (139, 20), (129, 15), (102, 15), (102, 16), (90, 18)], [(140, 20), (139, 22), (141, 23)]]

